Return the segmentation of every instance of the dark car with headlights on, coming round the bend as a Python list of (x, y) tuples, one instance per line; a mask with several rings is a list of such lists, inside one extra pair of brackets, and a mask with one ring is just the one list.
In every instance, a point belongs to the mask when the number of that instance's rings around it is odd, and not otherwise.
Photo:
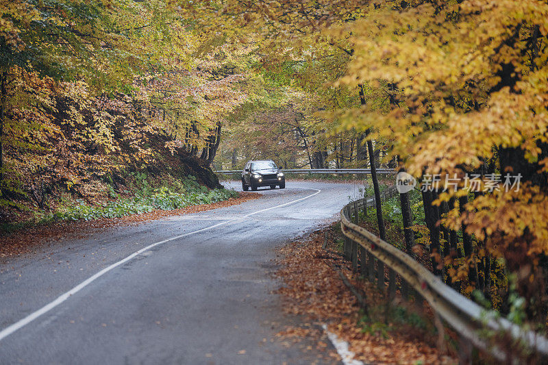
[(286, 187), (286, 177), (282, 173), (282, 166), (277, 166), (272, 160), (248, 161), (242, 172), (242, 189), (257, 190), (259, 186), (270, 186), (275, 189)]

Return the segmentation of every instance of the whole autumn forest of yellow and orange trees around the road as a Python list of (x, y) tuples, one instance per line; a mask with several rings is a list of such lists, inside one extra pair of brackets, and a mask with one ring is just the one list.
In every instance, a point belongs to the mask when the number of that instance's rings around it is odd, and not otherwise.
[[(465, 294), (482, 282), (499, 299), (492, 305), (507, 313), (519, 305), (517, 320), (545, 325), (547, 1), (2, 0), (0, 8), (3, 223), (166, 181), (163, 192), (184, 195), (197, 188), (189, 175), (221, 188), (211, 164), (373, 160), (419, 179), (462, 181), (426, 197), (442, 213), (422, 244), (453, 249), (433, 257)], [(507, 173), (521, 176), (519, 189), (488, 188)], [(482, 181), (476, 194), (464, 189), (471, 174)]]

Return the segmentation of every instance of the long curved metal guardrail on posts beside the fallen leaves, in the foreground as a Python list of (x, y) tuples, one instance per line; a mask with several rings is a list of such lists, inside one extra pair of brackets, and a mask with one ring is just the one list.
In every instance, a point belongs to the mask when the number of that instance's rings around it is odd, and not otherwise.
[[(397, 194), (395, 188), (384, 190), (382, 198), (387, 199)], [(384, 265), (388, 266), (388, 294), (395, 296), (397, 275), (401, 283), (400, 292), (403, 299), (408, 299), (409, 287), (416, 294), (425, 299), (435, 312), (437, 318), (443, 318), (461, 336), (461, 341), (468, 340), (473, 346), (482, 349), (502, 362), (515, 362), (508, 357), (508, 353), (492, 344), (488, 338), (479, 334), (480, 330), (490, 330), (504, 333), (513, 340), (518, 340), (528, 349), (543, 357), (546, 364), (548, 359), (548, 340), (534, 331), (524, 331), (505, 318), (487, 318), (486, 311), (464, 297), (462, 294), (447, 286), (439, 277), (436, 277), (427, 268), (416, 262), (412, 257), (403, 253), (392, 244), (381, 240), (366, 229), (360, 227), (360, 210), (366, 212), (373, 207), (373, 198), (353, 201), (340, 210), (340, 224), (345, 242), (345, 257), (351, 260), (354, 270), (358, 269), (358, 259), (362, 275), (370, 281), (377, 278), (377, 286), (385, 288)], [(360, 250), (358, 252), (358, 247)], [(375, 262), (377, 270), (375, 272)], [(466, 342), (464, 342), (466, 343)]]

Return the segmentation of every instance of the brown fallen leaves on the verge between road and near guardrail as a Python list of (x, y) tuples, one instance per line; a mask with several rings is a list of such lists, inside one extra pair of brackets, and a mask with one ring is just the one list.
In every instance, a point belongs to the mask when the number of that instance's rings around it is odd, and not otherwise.
[[(367, 364), (458, 363), (455, 353), (449, 353), (447, 347), (438, 348), (438, 336), (431, 331), (399, 323), (389, 316), (375, 318), (371, 308), (387, 307), (384, 293), (351, 270), (350, 262), (337, 251), (336, 242), (329, 242), (326, 249), (322, 249), (325, 231), (329, 231), (332, 237), (336, 234), (332, 226), (279, 249), (279, 270), (275, 275), (282, 280), (283, 286), (276, 292), (282, 297), (287, 314), (304, 316), (310, 323), (288, 327), (277, 336), (291, 338), (293, 342), (312, 338), (318, 340), (319, 348), (325, 349), (327, 344), (319, 338), (322, 334), (320, 325), (326, 323), (329, 331), (349, 342), (350, 351), (356, 354), (355, 360)], [(369, 316), (373, 317), (370, 323), (363, 323), (364, 312), (337, 270), (366, 299)], [(421, 312), (425, 320), (432, 317), (429, 308)], [(378, 329), (376, 321), (379, 322)], [(338, 358), (333, 351), (331, 355)]]

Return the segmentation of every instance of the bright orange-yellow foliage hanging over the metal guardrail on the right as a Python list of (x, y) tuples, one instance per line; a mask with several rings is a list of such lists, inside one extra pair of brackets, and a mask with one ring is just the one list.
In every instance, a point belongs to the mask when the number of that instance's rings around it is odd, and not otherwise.
[[(476, 242), (464, 268), (475, 269), (486, 249), (519, 272), (529, 314), (541, 319), (546, 301), (538, 295), (545, 292), (546, 268), (538, 264), (548, 253), (548, 5), (533, 0), (404, 5), (397, 11), (374, 6), (369, 16), (330, 29), (338, 37), (351, 34), (354, 45), (340, 82), (384, 83), (398, 100), (388, 113), (348, 110), (343, 125), (373, 128), (392, 140), (391, 153), (416, 177), (465, 181), (481, 175), (482, 194), (474, 199), (464, 183), (439, 195), (438, 203), (454, 198), (461, 203), (443, 223), (456, 231), (463, 227)], [(488, 188), (493, 179), (503, 184), (507, 174), (521, 177), (519, 191)]]

